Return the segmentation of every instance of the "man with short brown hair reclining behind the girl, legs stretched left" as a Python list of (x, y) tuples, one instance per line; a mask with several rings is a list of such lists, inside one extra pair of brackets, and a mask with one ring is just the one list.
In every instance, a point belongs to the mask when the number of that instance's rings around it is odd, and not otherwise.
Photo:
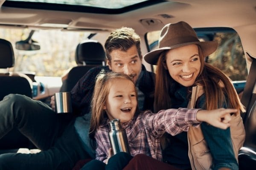
[(142, 65), (140, 37), (131, 28), (113, 31), (105, 43), (109, 66), (93, 68), (72, 90), (73, 114), (58, 115), (42, 102), (8, 95), (0, 102), (0, 138), (17, 127), (42, 151), (0, 155), (0, 169), (68, 170), (76, 161), (94, 157), (88, 138), (90, 101), (96, 75), (102, 71), (128, 74), (138, 89), (140, 109), (153, 106), (154, 74)]

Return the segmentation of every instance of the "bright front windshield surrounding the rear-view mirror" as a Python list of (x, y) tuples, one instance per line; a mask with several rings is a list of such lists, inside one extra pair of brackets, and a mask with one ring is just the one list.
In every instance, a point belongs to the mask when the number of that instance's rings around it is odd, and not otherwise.
[(38, 42), (39, 50), (15, 49), (15, 43), (26, 40), (31, 30), (0, 28), (0, 38), (12, 43), (15, 65), (10, 71), (32, 71), (37, 76), (60, 77), (67, 69), (76, 66), (75, 50), (90, 32), (36, 30), (32, 40)]

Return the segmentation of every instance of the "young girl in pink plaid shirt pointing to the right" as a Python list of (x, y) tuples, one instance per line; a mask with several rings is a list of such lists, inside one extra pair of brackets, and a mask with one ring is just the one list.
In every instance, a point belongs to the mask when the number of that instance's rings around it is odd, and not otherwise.
[[(131, 159), (128, 158), (123, 165), (116, 163), (115, 156), (108, 161), (112, 156), (108, 138), (109, 120), (120, 119), (128, 136), (131, 156), (145, 154), (162, 160), (159, 139), (163, 133), (176, 135), (191, 125), (197, 127), (203, 121), (226, 129), (229, 127), (230, 113), (236, 111), (179, 108), (159, 111), (157, 114), (141, 112), (138, 110), (136, 87), (130, 77), (114, 72), (100, 74), (93, 94), (90, 125), (90, 136), (96, 139), (96, 160), (85, 164), (82, 169), (105, 169), (105, 163), (108, 163), (106, 169), (122, 169)], [(120, 159), (118, 156), (116, 158)]]

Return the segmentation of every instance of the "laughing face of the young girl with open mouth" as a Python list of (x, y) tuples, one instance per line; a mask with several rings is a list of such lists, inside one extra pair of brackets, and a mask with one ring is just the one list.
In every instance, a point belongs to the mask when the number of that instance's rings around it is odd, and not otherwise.
[(133, 82), (127, 79), (113, 79), (109, 83), (109, 94), (104, 109), (110, 120), (128, 122), (137, 108), (136, 91)]

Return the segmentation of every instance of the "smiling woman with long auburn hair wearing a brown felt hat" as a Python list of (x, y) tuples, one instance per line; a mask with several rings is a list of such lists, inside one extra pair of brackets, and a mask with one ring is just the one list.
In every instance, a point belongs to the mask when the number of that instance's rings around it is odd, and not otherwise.
[[(144, 56), (146, 62), (157, 65), (155, 112), (180, 107), (238, 109), (227, 130), (203, 122), (198, 128), (189, 127), (188, 132), (163, 137), (163, 161), (180, 169), (239, 169), (238, 152), (245, 137), (240, 111), (244, 108), (230, 79), (204, 63), (204, 57), (216, 48), (217, 42), (200, 42), (192, 27), (181, 21), (164, 26), (159, 49)], [(126, 169), (152, 162), (151, 158), (141, 161), (130, 161)]]

